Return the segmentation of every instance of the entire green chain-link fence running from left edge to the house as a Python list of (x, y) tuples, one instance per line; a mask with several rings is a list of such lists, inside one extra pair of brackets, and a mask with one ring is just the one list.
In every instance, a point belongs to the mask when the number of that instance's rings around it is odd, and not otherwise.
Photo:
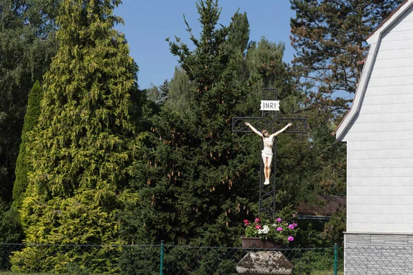
[[(343, 274), (341, 248), (0, 243), (0, 274)], [(268, 273), (269, 272), (269, 273)], [(282, 273), (279, 273), (282, 274)]]

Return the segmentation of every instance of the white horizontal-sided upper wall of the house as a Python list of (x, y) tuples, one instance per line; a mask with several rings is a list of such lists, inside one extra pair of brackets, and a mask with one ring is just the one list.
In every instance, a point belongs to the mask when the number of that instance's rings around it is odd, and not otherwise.
[(413, 232), (413, 8), (383, 34), (348, 146), (347, 232)]

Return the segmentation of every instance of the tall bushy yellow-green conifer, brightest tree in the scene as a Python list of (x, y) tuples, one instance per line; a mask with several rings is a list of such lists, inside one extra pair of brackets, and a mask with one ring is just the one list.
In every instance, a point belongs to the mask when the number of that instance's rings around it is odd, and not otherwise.
[[(39, 124), (29, 133), (28, 191), (21, 207), (30, 243), (118, 243), (116, 212), (136, 161), (130, 112), (137, 67), (113, 15), (120, 0), (65, 0), (57, 18), (59, 52), (43, 84)], [(53, 249), (53, 248), (51, 248)], [(75, 253), (75, 252), (73, 252)], [(93, 273), (117, 273), (116, 259), (76, 252)], [(67, 272), (70, 251), (14, 254), (13, 270)], [(46, 253), (47, 254), (47, 253)]]

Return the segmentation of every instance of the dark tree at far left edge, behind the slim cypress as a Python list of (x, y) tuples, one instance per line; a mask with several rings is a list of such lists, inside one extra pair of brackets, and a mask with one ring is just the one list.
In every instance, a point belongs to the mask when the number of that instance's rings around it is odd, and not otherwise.
[(54, 0), (0, 0), (0, 199), (10, 203), (28, 94), (56, 52)]

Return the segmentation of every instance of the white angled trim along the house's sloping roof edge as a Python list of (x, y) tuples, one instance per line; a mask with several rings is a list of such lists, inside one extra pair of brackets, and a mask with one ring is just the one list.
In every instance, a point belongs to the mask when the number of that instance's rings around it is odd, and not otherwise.
[(379, 50), (377, 43), (379, 42), (381, 35), (385, 32), (385, 30), (388, 30), (388, 28), (390, 28), (390, 26), (393, 25), (393, 23), (396, 22), (396, 20), (399, 19), (407, 10), (409, 10), (412, 5), (413, 0), (405, 0), (390, 14), (388, 18), (386, 18), (369, 36), (367, 36), (366, 41), (370, 44), (370, 49), (367, 54), (366, 63), (364, 63), (363, 72), (361, 73), (361, 78), (357, 84), (357, 91), (354, 94), (352, 106), (335, 131), (337, 140), (345, 141), (343, 140), (344, 133), (346, 133), (346, 129), (360, 111), (361, 101), (364, 93), (366, 92), (368, 78), (370, 78), (370, 74), (372, 72), (372, 63)]

